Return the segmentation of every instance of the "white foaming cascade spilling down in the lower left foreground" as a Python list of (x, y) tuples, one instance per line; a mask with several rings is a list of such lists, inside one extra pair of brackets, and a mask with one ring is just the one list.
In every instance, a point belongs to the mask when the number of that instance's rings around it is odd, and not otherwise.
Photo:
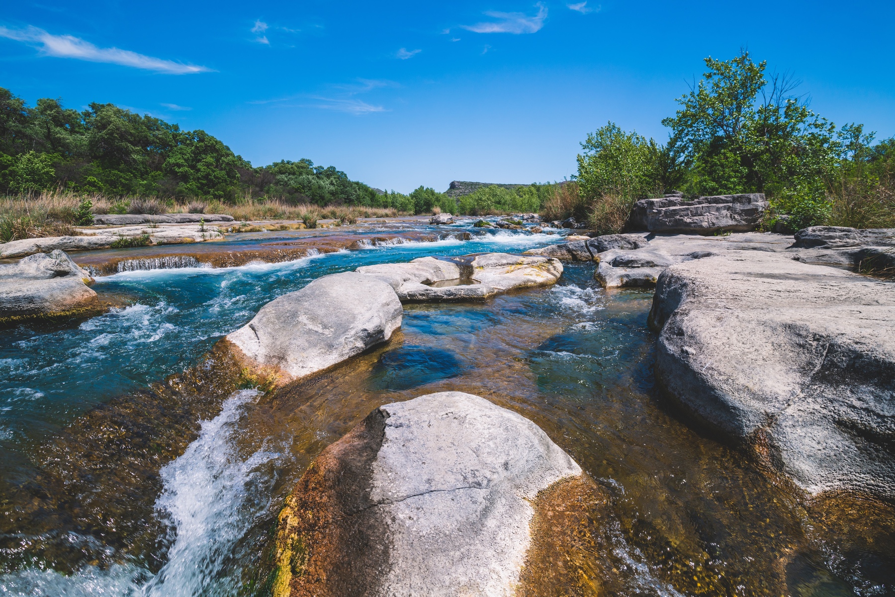
[[(167, 563), (152, 576), (132, 564), (84, 567), (65, 576), (30, 568), (0, 576), (0, 594), (24, 597), (198, 597), (238, 593), (234, 545), (269, 506), (269, 471), (279, 454), (260, 449), (242, 458), (235, 445), (243, 407), (259, 392), (240, 390), (220, 414), (202, 422), (199, 439), (160, 471), (159, 516), (172, 525)], [(235, 568), (235, 569), (232, 569)]]

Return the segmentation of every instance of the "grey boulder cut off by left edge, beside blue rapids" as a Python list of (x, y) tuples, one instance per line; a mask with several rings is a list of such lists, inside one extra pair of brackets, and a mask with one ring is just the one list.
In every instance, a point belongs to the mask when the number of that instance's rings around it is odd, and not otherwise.
[(0, 322), (78, 314), (98, 307), (93, 279), (65, 252), (37, 253), (0, 266)]

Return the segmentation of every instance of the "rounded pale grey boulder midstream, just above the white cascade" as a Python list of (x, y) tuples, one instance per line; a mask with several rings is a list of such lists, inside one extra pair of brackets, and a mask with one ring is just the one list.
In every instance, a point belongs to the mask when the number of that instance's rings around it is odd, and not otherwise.
[(385, 342), (401, 327), (402, 314), (391, 286), (345, 272), (319, 277), (267, 303), (226, 339), (252, 368), (272, 370), (283, 383)]

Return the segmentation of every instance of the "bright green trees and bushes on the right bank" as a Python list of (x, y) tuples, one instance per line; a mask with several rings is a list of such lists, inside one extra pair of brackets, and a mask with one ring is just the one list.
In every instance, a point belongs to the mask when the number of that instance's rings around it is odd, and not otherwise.
[[(766, 226), (895, 226), (895, 139), (874, 144), (861, 124), (837, 128), (769, 75), (748, 52), (706, 58), (708, 70), (662, 121), (660, 144), (609, 123), (587, 136), (577, 158), (578, 195), (564, 207), (616, 231), (633, 201), (678, 190), (686, 197), (763, 192)], [(561, 210), (561, 209), (559, 209)]]

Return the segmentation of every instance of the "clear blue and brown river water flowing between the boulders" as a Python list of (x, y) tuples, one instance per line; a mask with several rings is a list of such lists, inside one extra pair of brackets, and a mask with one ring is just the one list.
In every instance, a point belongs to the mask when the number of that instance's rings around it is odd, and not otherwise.
[(607, 293), (591, 264), (488, 302), (405, 305), (390, 342), (270, 396), (213, 348), (329, 273), (558, 240), (488, 231), (220, 269), (134, 252), (94, 286), (125, 306), (0, 331), (0, 593), (264, 594), (278, 508), (313, 457), (378, 405), (456, 389), (529, 417), (597, 482), (575, 554), (593, 594), (891, 594), (891, 507), (806, 500), (679, 420), (652, 388), (652, 293)]

